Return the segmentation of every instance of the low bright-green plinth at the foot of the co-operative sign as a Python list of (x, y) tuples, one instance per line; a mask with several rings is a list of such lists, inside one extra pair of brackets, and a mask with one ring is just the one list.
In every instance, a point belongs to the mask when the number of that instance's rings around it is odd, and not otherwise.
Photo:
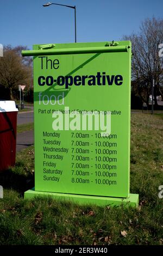
[(64, 193), (54, 193), (54, 192), (42, 192), (32, 190), (28, 190), (24, 192), (25, 199), (32, 199), (34, 197), (42, 197), (42, 196), (50, 196), (54, 199), (59, 200), (71, 200), (74, 203), (78, 204), (95, 204), (99, 206), (105, 205), (124, 205), (137, 207), (139, 205), (139, 194), (129, 194), (128, 198), (117, 198), (117, 197), (98, 197), (98, 196), (87, 196), (80, 194), (64, 194)]

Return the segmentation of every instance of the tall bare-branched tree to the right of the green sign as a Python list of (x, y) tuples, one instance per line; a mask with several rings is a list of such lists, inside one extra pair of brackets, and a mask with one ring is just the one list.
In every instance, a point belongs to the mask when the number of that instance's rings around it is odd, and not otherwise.
[[(132, 43), (132, 80), (134, 90), (144, 102), (149, 102), (154, 83), (154, 101), (158, 105), (156, 95), (161, 94), (163, 57), (159, 57), (159, 45), (163, 43), (163, 20), (146, 19), (142, 22), (140, 32), (124, 36)], [(163, 96), (163, 95), (162, 95)]]

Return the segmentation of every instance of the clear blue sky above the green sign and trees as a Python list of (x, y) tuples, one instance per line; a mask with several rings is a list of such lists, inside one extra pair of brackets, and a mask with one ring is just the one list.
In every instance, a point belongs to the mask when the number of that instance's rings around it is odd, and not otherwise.
[[(74, 41), (74, 10), (42, 0), (0, 0), (0, 44), (24, 45)], [(77, 42), (120, 40), (139, 31), (147, 17), (163, 19), (162, 0), (60, 0), (76, 5)]]

